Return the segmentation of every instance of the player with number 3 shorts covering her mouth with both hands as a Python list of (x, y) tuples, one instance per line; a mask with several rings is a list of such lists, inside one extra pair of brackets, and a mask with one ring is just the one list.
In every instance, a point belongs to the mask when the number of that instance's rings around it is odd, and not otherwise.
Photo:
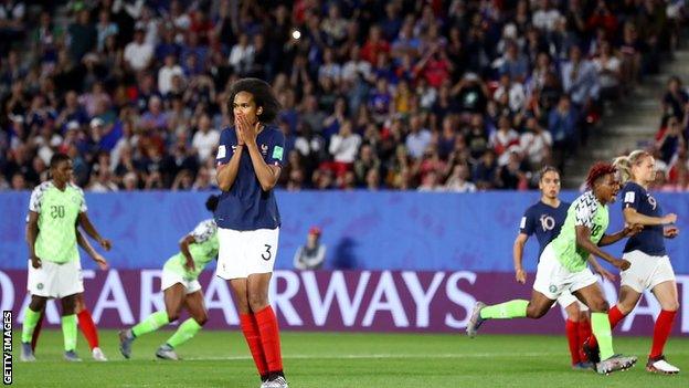
[(268, 302), (280, 226), (273, 188), (285, 150), (283, 133), (269, 123), (279, 103), (266, 82), (243, 78), (232, 85), (229, 104), (234, 127), (222, 132), (216, 157), (223, 191), (215, 211), (216, 275), (230, 281), (262, 387), (286, 388), (277, 318)]

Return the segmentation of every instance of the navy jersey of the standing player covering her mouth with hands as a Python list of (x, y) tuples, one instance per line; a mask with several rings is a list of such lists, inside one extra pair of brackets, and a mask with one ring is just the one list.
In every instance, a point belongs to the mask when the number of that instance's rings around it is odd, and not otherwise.
[[(283, 167), (285, 136), (275, 126), (265, 126), (256, 136), (258, 150), (267, 165)], [(226, 164), (237, 147), (234, 127), (220, 135), (218, 164)], [(248, 149), (242, 151), (236, 179), (229, 191), (223, 191), (215, 210), (219, 228), (233, 230), (275, 229), (280, 226), (279, 212), (273, 190), (263, 191)]]

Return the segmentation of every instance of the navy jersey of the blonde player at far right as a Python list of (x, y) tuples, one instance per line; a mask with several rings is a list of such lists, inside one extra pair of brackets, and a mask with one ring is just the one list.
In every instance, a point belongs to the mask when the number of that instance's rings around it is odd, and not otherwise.
[[(662, 217), (662, 209), (656, 199), (640, 185), (633, 181), (622, 188), (622, 209), (632, 208), (637, 213), (648, 217)], [(651, 256), (664, 256), (665, 238), (662, 226), (644, 226), (636, 235), (630, 237), (624, 252), (642, 251)]]

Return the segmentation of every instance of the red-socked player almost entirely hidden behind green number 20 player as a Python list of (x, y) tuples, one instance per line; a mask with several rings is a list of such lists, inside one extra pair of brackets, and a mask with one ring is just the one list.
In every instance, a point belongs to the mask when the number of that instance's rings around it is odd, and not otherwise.
[[(98, 268), (100, 270), (106, 271), (108, 269), (107, 260), (91, 245), (88, 240), (84, 238), (78, 229), (76, 230), (76, 241), (78, 245), (82, 247), (84, 251), (86, 251), (86, 253), (88, 253), (88, 255), (98, 264)], [(86, 338), (86, 342), (88, 342), (93, 358), (96, 361), (107, 361), (107, 358), (105, 357), (105, 354), (103, 353), (98, 344), (98, 332), (96, 329), (96, 324), (93, 322), (91, 312), (88, 311), (88, 308), (86, 308), (86, 304), (84, 303), (84, 293), (76, 294), (74, 312), (76, 313), (78, 327)], [(41, 311), (41, 317), (39, 317), (39, 322), (33, 329), (33, 335), (31, 336), (31, 349), (33, 350), (34, 355), (35, 347), (39, 343), (39, 336), (41, 334), (41, 327), (43, 326), (44, 317), (45, 310)]]

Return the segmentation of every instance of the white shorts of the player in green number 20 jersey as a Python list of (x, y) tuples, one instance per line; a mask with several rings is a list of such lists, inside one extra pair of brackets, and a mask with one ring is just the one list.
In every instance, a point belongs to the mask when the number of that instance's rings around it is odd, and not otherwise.
[(82, 263), (80, 260), (72, 260), (56, 264), (41, 260), (41, 268), (34, 269), (29, 260), (26, 289), (31, 295), (56, 298), (83, 293)]

